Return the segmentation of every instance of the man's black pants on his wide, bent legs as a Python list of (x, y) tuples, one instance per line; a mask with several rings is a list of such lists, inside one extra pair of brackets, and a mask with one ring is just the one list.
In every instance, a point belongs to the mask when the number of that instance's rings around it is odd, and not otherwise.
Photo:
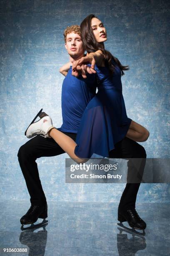
[[(76, 133), (65, 134), (75, 141)], [(135, 174), (139, 168), (140, 173), (143, 173), (146, 159), (146, 152), (143, 146), (125, 137), (122, 141), (116, 143), (115, 147), (115, 149), (110, 151), (110, 158), (138, 158), (138, 167), (134, 161), (128, 161), (128, 172)], [(42, 205), (46, 202), (35, 160), (42, 156), (57, 156), (63, 153), (65, 151), (52, 138), (44, 138), (41, 135), (35, 136), (20, 147), (18, 161), (25, 178), (32, 205)], [(127, 183), (122, 193), (119, 207), (135, 207), (139, 187), (140, 183)]]

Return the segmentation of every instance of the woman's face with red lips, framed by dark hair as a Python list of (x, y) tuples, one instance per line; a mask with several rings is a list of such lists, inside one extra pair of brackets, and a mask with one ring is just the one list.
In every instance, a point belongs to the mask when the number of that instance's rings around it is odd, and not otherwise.
[(92, 18), (91, 28), (98, 43), (105, 42), (107, 40), (106, 29), (101, 20)]

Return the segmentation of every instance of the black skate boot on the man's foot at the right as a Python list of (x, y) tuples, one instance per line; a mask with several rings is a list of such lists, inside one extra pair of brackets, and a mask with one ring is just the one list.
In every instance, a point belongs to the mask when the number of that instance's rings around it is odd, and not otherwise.
[(122, 223), (127, 221), (131, 228), (144, 230), (146, 228), (146, 223), (142, 220), (135, 208), (129, 208), (122, 210), (118, 208), (118, 220)]

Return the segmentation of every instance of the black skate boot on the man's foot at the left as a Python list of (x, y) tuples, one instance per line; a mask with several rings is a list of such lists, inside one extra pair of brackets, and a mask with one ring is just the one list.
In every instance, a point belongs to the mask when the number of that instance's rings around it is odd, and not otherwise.
[(20, 218), (22, 225), (32, 224), (37, 221), (38, 218), (47, 218), (47, 203), (46, 205), (31, 205), (28, 212)]

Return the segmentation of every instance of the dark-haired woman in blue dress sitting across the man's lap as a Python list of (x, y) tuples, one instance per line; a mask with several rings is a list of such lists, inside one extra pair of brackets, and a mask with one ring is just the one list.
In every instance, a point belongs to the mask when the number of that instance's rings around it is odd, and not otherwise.
[[(140, 142), (146, 141), (149, 136), (147, 129), (126, 115), (121, 75), (124, 74), (123, 70), (129, 68), (122, 66), (117, 58), (105, 50), (107, 33), (102, 22), (95, 15), (89, 15), (80, 27), (88, 56), (76, 61), (72, 69), (75, 76), (78, 76), (78, 67), (80, 68), (83, 62), (92, 63), (93, 53), (100, 51), (100, 66), (95, 65), (98, 92), (83, 113), (76, 142), (55, 129), (52, 122), (49, 122), (47, 128), (47, 136), (52, 137), (78, 163), (87, 161), (92, 154), (108, 156), (109, 151), (115, 148), (115, 143), (125, 136)], [(85, 77), (84, 68), (82, 72)]]

